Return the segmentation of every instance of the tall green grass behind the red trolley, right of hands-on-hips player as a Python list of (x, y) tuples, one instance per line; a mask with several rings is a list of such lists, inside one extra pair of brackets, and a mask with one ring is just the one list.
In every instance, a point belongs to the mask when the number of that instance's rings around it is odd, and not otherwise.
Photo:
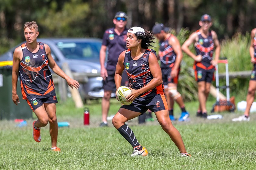
[[(252, 70), (253, 64), (249, 53), (250, 43), (251, 35), (249, 32), (246, 32), (245, 35), (238, 33), (232, 39), (221, 42), (220, 57), (228, 59), (229, 72)], [(219, 73), (225, 73), (225, 64), (219, 64)], [(231, 95), (241, 96), (245, 100), (249, 80), (249, 77), (229, 78)], [(225, 85), (225, 83), (225, 79), (220, 79), (220, 85)], [(226, 94), (225, 91), (223, 93)]]

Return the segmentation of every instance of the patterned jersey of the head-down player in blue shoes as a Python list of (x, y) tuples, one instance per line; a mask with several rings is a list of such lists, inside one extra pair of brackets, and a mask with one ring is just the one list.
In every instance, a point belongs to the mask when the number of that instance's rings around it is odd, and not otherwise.
[(172, 46), (169, 45), (168, 41), (172, 35), (165, 41), (160, 42), (159, 56), (161, 61), (161, 68), (172, 68), (176, 60), (176, 53), (173, 51)]

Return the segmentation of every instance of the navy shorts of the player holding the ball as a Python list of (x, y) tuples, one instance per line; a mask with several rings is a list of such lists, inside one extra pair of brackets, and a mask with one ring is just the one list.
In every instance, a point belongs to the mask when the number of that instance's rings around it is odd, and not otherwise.
[(153, 97), (137, 97), (130, 105), (123, 105), (121, 108), (140, 112), (144, 114), (148, 109), (151, 112), (168, 110), (167, 100), (164, 94), (157, 94)]

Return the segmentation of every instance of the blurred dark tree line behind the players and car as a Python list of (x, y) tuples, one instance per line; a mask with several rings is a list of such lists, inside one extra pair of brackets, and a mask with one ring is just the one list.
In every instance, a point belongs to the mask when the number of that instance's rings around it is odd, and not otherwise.
[(0, 0), (0, 54), (25, 40), (27, 21), (37, 22), (41, 38), (102, 38), (118, 11), (128, 14), (128, 28), (163, 23), (176, 32), (195, 31), (207, 13), (220, 40), (256, 27), (256, 0)]

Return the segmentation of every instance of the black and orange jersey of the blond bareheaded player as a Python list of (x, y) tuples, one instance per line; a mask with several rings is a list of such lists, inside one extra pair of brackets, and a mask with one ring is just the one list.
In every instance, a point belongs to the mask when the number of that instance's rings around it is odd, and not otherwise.
[(31, 53), (25, 43), (21, 45), (23, 58), (19, 72), (23, 99), (56, 96), (44, 44), (39, 42), (39, 45), (36, 53)]

